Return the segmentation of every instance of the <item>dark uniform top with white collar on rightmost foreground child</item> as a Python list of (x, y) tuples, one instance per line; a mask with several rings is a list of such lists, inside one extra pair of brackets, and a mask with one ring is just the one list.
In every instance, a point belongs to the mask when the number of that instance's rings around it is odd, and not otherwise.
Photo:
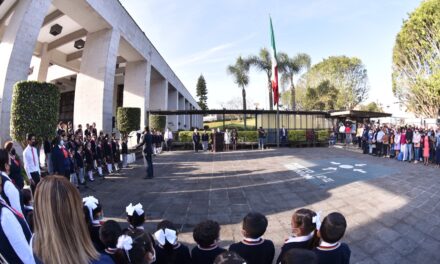
[(318, 256), (319, 264), (348, 264), (350, 263), (351, 250), (345, 243), (329, 244), (321, 242), (319, 247), (313, 249)]

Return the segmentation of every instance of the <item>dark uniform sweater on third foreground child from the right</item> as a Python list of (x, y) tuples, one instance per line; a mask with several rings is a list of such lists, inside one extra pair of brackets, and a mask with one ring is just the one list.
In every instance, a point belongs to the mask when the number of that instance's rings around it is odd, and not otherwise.
[(261, 237), (258, 239), (245, 238), (241, 242), (232, 244), (229, 251), (240, 255), (247, 264), (272, 264), (275, 256), (273, 242)]

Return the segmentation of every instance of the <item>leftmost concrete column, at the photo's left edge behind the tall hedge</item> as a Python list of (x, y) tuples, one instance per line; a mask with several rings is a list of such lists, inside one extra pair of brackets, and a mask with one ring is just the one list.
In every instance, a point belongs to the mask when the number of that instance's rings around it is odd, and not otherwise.
[(0, 42), (0, 143), (10, 139), (13, 86), (27, 80), (41, 25), (51, 0), (18, 1)]

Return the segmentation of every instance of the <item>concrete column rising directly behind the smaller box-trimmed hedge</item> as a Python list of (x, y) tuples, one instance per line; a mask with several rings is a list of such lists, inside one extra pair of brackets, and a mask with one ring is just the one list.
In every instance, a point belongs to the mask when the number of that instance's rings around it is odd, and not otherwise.
[(124, 107), (140, 107), (140, 127), (147, 126), (146, 111), (150, 104), (151, 63), (149, 61), (127, 62), (124, 80)]

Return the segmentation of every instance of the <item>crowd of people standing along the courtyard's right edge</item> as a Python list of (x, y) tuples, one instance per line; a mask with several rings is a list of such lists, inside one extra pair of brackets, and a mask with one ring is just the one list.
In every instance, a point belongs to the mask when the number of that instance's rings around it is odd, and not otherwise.
[[(339, 138), (345, 138), (345, 144), (357, 144), (364, 154), (440, 167), (440, 127), (358, 124), (354, 129), (346, 124), (345, 131)], [(330, 145), (336, 140), (337, 134), (332, 133)]]

